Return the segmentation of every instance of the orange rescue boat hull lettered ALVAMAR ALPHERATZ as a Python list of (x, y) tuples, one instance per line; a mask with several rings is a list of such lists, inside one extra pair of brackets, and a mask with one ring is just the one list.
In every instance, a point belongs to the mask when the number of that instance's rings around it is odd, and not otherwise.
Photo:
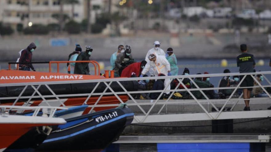
[[(72, 80), (93, 80), (93, 79), (105, 79), (103, 76), (94, 75), (76, 75), (76, 74), (66, 74), (66, 73), (48, 73), (48, 72), (30, 72), (30, 71), (19, 71), (19, 70), (0, 70), (0, 84), (12, 84), (12, 83), (33, 83), (33, 82), (57, 82), (57, 81), (72, 81)], [(127, 91), (135, 91), (138, 86), (135, 81), (122, 81), (120, 82)], [(90, 93), (96, 86), (97, 83), (72, 83), (72, 84), (49, 84), (48, 86), (56, 95), (67, 95), (67, 94), (84, 94)], [(0, 87), (0, 98), (1, 97), (14, 97), (18, 96), (25, 86), (4, 86)], [(123, 91), (123, 89), (116, 83), (113, 82), (110, 87), (114, 91)], [(95, 89), (95, 93), (103, 92), (106, 88), (104, 83), (100, 83)], [(42, 85), (38, 91), (41, 95), (51, 95), (48, 88)], [(108, 89), (109, 92), (109, 89)], [(34, 93), (34, 89), (28, 86), (23, 92), (22, 96), (31, 96)], [(38, 95), (38, 94), (36, 94)], [(119, 98), (123, 102), (128, 100), (127, 95), (119, 95)], [(87, 96), (74, 96), (68, 98), (61, 98), (62, 102), (66, 106), (78, 106), (82, 105)], [(86, 104), (94, 105), (99, 99), (99, 96), (91, 96)], [(25, 101), (27, 99), (20, 99), (16, 105), (26, 105)], [(47, 99), (47, 102), (55, 101), (55, 99)], [(21, 101), (21, 102), (20, 102)], [(14, 99), (1, 100), (1, 105), (10, 105), (14, 102)], [(44, 101), (41, 98), (34, 98), (29, 103), (32, 105), (44, 105)], [(118, 104), (119, 99), (115, 95), (104, 95), (98, 104)], [(57, 105), (58, 104), (58, 105)], [(61, 106), (58, 102), (54, 104), (55, 106)], [(94, 111), (101, 111), (115, 107), (95, 107)], [(86, 108), (83, 114), (87, 114), (91, 108)]]

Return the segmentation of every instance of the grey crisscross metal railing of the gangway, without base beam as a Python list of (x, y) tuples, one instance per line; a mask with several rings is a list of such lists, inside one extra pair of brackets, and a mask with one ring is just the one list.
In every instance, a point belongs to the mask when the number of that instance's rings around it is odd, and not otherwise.
[[(256, 75), (262, 75), (264, 77), (264, 80), (266, 80), (267, 85), (262, 85), (260, 84), (259, 81), (257, 81), (257, 79), (255, 78)], [(199, 88), (199, 86), (194, 82), (194, 78), (197, 77), (223, 77), (223, 76), (244, 76), (239, 84), (237, 84), (237, 86), (234, 87), (215, 87), (215, 88)], [(114, 78), (114, 79), (96, 79), (96, 80), (73, 80), (73, 81), (54, 81), (54, 82), (33, 82), (33, 83), (13, 83), (13, 84), (0, 84), (0, 87), (8, 87), (8, 86), (24, 86), (24, 88), (22, 89), (22, 92), (17, 96), (17, 97), (0, 97), (0, 103), (1, 100), (7, 100), (7, 99), (15, 99), (14, 105), (15, 103), (17, 103), (19, 101), (19, 99), (28, 99), (26, 101), (26, 103), (29, 103), (32, 99), (34, 98), (41, 98), (48, 106), (50, 106), (50, 102), (60, 102), (60, 104), (62, 106), (65, 106), (64, 102), (63, 102), (63, 98), (69, 98), (69, 97), (79, 97), (79, 96), (87, 96), (87, 99), (85, 100), (84, 103), (87, 103), (88, 99), (91, 96), (99, 96), (99, 98), (96, 100), (94, 105), (89, 105), (89, 107), (91, 107), (91, 111), (93, 111), (93, 109), (95, 107), (111, 107), (111, 106), (118, 106), (118, 104), (98, 104), (100, 99), (103, 97), (103, 95), (114, 95), (120, 103), (124, 103), (122, 101), (122, 99), (119, 97), (119, 95), (123, 95), (126, 94), (129, 96), (129, 98), (131, 99), (131, 101), (133, 101), (133, 103), (127, 103), (127, 106), (137, 106), (140, 111), (142, 113), (140, 114), (136, 114), (136, 115), (140, 115), (143, 117), (137, 118), (135, 115), (135, 119), (136, 122), (138, 123), (144, 123), (145, 120), (148, 118), (148, 116), (153, 115), (153, 108), (157, 105), (162, 105), (162, 107), (160, 108), (160, 110), (158, 111), (157, 114), (155, 115), (160, 115), (162, 114), (161, 111), (163, 110), (163, 108), (165, 107), (165, 105), (167, 104), (182, 104), (182, 103), (197, 103), (197, 105), (204, 111), (204, 113), (208, 116), (208, 118), (210, 120), (214, 120), (214, 119), (219, 119), (220, 114), (223, 112), (224, 107), (226, 107), (229, 104), (229, 101), (234, 101), (235, 103), (233, 105), (231, 105), (231, 109), (230, 111), (234, 110), (234, 107), (236, 106), (236, 104), (238, 103), (239, 100), (241, 100), (242, 98), (242, 94), (239, 96), (239, 98), (233, 98), (234, 93), (237, 91), (237, 89), (242, 89), (242, 88), (258, 88), (260, 87), (267, 95), (268, 97), (266, 98), (252, 98), (250, 100), (259, 100), (259, 102), (262, 99), (270, 99), (270, 103), (271, 103), (271, 95), (266, 91), (266, 87), (271, 87), (271, 82), (270, 80), (267, 79), (267, 75), (271, 75), (271, 71), (265, 71), (265, 72), (253, 72), (253, 73), (218, 73), (218, 74), (200, 74), (200, 75), (180, 75), (180, 76), (156, 76), (156, 77), (136, 77), (136, 78)], [(245, 77), (247, 76), (252, 76), (254, 81), (258, 84), (257, 86), (253, 86), (253, 87), (240, 87), (240, 84), (244, 81)], [(191, 85), (193, 84), (196, 88), (187, 88), (185, 86), (185, 84), (182, 82), (185, 78), (188, 78), (191, 81)], [(170, 79), (170, 82), (172, 82), (173, 79), (176, 79), (179, 81), (179, 84), (171, 90), (167, 90), (168, 86), (165, 86), (163, 90), (149, 90), (149, 91), (127, 91), (127, 89), (125, 88), (125, 86), (123, 86), (123, 84), (121, 84), (121, 81), (137, 81), (137, 80), (154, 80), (154, 79)], [(112, 82), (116, 82), (119, 87), (121, 87), (123, 89), (123, 91), (114, 91), (112, 89), (112, 87), (110, 86), (112, 84)], [(78, 84), (78, 83), (97, 83), (94, 87), (93, 90), (91, 90), (89, 93), (81, 93), (81, 94), (61, 94), (61, 95), (56, 95), (55, 92), (50, 88), (50, 84)], [(99, 84), (104, 83), (106, 85), (106, 88), (104, 89), (103, 92), (99, 92), (96, 93), (95, 90), (98, 88)], [(42, 95), (38, 89), (42, 86), (46, 86), (48, 88), (48, 90), (52, 93), (52, 95)], [(170, 83), (168, 84), (170, 85)], [(184, 89), (179, 89), (178, 86), (182, 85), (184, 87)], [(34, 89), (34, 92), (31, 96), (22, 96), (23, 93), (25, 92), (27, 87), (31, 87)], [(232, 94), (229, 96), (229, 98), (227, 99), (209, 99), (208, 96), (204, 93), (204, 91), (206, 90), (218, 90), (218, 89), (233, 89)], [(200, 93), (205, 97), (205, 99), (197, 99), (192, 91), (200, 91)], [(134, 99), (133, 96), (131, 94), (139, 94), (139, 93), (154, 93), (154, 92), (159, 92), (160, 95), (158, 96), (157, 99), (154, 99), (154, 101), (152, 103), (141, 103), (140, 99)], [(160, 100), (160, 98), (162, 97), (164, 92), (171, 92), (170, 96), (168, 97), (168, 99), (166, 100)], [(191, 100), (174, 100), (174, 102), (169, 101), (172, 97), (172, 95), (174, 94), (174, 92), (188, 92), (188, 94), (192, 97), (193, 101)], [(35, 95), (35, 94), (38, 95)], [(50, 98), (50, 99), (47, 99)], [(51, 98), (55, 98), (55, 99), (51, 99)], [(158, 102), (159, 101), (159, 102)], [(203, 105), (202, 103), (209, 103), (212, 105), (212, 107), (216, 110), (216, 115), (211, 114), (212, 111), (208, 111)], [(215, 102), (221, 102), (223, 104), (223, 106), (221, 107), (221, 109), (219, 110), (219, 108), (216, 107)], [(151, 107), (145, 111), (142, 106), (143, 105), (151, 105)], [(90, 112), (91, 112), (90, 111)], [(271, 113), (271, 111), (270, 111)]]

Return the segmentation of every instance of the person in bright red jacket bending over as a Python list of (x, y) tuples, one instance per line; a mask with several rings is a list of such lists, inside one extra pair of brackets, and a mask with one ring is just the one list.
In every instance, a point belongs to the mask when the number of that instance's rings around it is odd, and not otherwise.
[(121, 72), (121, 77), (131, 77), (131, 75), (136, 75), (136, 77), (139, 77), (146, 64), (147, 62), (143, 60), (141, 62), (136, 62), (128, 65)]

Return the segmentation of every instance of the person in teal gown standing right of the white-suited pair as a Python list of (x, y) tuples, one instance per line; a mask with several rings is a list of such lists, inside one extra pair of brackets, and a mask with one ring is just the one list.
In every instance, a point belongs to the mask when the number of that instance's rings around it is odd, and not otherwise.
[(166, 58), (170, 64), (170, 72), (171, 72), (172, 76), (177, 76), (178, 72), (179, 72), (179, 68), (177, 65), (177, 58), (176, 58), (175, 54), (173, 53), (172, 48), (167, 49)]

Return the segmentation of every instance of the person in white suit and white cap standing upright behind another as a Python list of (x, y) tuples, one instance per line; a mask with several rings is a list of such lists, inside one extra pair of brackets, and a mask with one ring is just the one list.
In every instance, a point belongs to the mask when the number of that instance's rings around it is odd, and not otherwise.
[[(166, 55), (166, 53), (164, 52), (163, 49), (160, 48), (160, 42), (159, 41), (155, 41), (153, 43), (154, 47), (152, 49), (150, 49), (145, 57), (145, 61), (150, 62), (150, 60), (148, 59), (148, 57), (150, 56), (150, 54), (154, 54), (155, 56), (164, 56)], [(149, 70), (150, 75), (153, 76), (154, 75), (154, 68), (150, 68)]]

